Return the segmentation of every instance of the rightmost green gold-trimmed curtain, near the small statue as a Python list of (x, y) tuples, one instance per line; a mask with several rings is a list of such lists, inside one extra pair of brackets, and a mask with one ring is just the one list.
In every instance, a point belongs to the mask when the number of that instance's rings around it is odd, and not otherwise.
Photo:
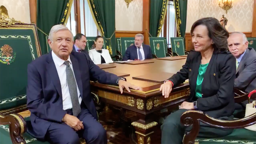
[(173, 0), (179, 37), (185, 38), (188, 0)]

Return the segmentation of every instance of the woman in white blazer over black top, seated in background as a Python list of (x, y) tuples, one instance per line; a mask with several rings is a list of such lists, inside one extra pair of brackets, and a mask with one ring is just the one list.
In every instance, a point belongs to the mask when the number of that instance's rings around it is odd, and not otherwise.
[(109, 51), (102, 49), (104, 43), (102, 36), (97, 36), (94, 43), (95, 49), (89, 50), (89, 56), (94, 64), (113, 63)]

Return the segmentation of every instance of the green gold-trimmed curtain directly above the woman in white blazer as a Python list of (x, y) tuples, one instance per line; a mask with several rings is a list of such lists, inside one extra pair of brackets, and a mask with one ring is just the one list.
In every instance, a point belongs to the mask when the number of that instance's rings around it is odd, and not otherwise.
[(87, 0), (92, 16), (102, 36), (107, 40), (107, 49), (116, 55), (115, 0)]

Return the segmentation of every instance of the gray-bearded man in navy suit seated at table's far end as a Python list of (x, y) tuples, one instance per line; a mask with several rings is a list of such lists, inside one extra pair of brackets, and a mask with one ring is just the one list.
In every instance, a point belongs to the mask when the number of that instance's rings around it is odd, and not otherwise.
[(135, 35), (135, 45), (132, 45), (126, 49), (123, 61), (145, 60), (153, 58), (150, 46), (142, 44), (143, 40), (144, 36), (142, 34)]

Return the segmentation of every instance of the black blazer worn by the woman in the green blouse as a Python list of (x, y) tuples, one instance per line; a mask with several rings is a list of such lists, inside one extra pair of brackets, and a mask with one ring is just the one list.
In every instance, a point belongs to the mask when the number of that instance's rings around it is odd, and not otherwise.
[(201, 58), (200, 52), (191, 51), (182, 69), (169, 80), (177, 86), (189, 79), (189, 102), (197, 101), (198, 110), (211, 117), (229, 117), (234, 112), (236, 59), (227, 51), (214, 52), (202, 82), (202, 98), (196, 99), (195, 89)]

